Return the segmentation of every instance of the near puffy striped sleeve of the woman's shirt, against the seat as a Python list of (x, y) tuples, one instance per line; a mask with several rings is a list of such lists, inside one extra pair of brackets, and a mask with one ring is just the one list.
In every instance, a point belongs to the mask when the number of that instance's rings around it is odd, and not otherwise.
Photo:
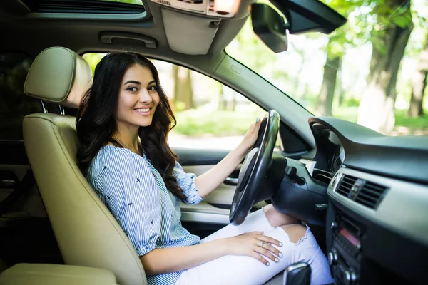
[(139, 256), (151, 252), (161, 233), (161, 201), (147, 162), (123, 149), (106, 154), (100, 175), (101, 192)]

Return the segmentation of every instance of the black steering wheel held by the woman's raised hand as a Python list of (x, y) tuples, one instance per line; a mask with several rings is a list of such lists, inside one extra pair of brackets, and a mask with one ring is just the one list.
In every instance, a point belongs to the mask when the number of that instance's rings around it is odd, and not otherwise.
[(233, 196), (230, 209), (230, 224), (238, 226), (247, 217), (250, 209), (256, 203), (260, 192), (260, 182), (267, 175), (272, 162), (273, 148), (280, 128), (280, 114), (269, 110), (263, 118), (253, 150), (245, 156), (243, 166), (238, 175), (238, 185)]

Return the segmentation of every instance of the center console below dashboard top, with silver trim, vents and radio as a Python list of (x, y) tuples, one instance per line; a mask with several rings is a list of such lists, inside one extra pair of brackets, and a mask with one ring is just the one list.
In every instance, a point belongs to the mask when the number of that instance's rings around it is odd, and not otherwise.
[(342, 168), (327, 195), (335, 284), (428, 284), (427, 187)]

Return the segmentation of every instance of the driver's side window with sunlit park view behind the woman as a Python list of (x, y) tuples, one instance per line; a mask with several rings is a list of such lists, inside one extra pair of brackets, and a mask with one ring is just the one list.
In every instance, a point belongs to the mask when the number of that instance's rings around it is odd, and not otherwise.
[[(83, 58), (94, 69), (102, 56), (87, 53)], [(165, 61), (152, 62), (177, 119), (169, 135), (170, 147), (232, 150), (255, 119), (262, 119), (266, 113), (208, 76)]]

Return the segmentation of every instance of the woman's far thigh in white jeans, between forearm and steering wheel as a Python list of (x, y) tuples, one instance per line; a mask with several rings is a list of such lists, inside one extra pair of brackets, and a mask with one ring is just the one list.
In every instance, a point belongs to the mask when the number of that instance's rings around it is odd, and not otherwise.
[(272, 229), (275, 228), (269, 224), (264, 210), (258, 209), (257, 211), (249, 214), (248, 217), (245, 218), (245, 221), (239, 226), (228, 224), (222, 229), (219, 229), (217, 232), (210, 234), (208, 237), (205, 237), (205, 239), (201, 240), (200, 242), (203, 243), (210, 242), (215, 239), (235, 237), (245, 232), (268, 232)]

